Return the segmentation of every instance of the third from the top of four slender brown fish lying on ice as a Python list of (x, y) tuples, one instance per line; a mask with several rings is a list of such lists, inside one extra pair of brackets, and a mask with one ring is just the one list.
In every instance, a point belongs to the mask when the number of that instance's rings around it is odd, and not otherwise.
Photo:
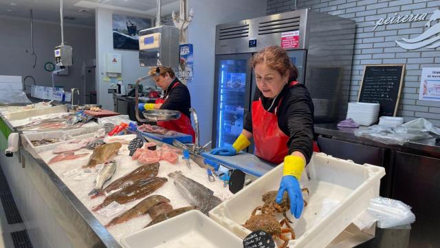
[(148, 213), (148, 211), (150, 211), (150, 209), (152, 209), (153, 207), (157, 205), (168, 204), (169, 202), (170, 200), (168, 198), (165, 198), (164, 196), (148, 196), (144, 200), (141, 200), (140, 203), (137, 203), (131, 209), (124, 211), (124, 213), (116, 216), (115, 218), (113, 218), (113, 220), (110, 220), (110, 222), (107, 223), (105, 227), (111, 227), (112, 225), (117, 225), (127, 220), (131, 220), (132, 218), (142, 216)]

